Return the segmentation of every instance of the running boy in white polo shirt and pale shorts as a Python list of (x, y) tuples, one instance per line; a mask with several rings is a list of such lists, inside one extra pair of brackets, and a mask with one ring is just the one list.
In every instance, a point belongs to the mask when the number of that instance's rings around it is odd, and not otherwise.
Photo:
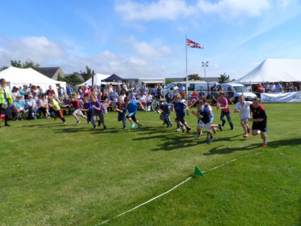
[(250, 118), (250, 105), (252, 104), (251, 101), (245, 101), (246, 97), (244, 95), (240, 95), (238, 97), (238, 101), (235, 105), (234, 113), (239, 112), (240, 124), (244, 129), (244, 136), (249, 137), (249, 133), (251, 128), (248, 125), (248, 118)]

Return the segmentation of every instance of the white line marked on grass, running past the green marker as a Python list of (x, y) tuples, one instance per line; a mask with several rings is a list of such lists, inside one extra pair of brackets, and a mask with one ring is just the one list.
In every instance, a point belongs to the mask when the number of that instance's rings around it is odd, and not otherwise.
[[(278, 149), (281, 149), (281, 148), (285, 148), (285, 147), (287, 147), (287, 146), (283, 146), (283, 147), (280, 147), (280, 148), (275, 148), (275, 149), (273, 149), (272, 151), (275, 151), (275, 150), (278, 150)], [(262, 153), (264, 153), (264, 152), (257, 152), (257, 153), (252, 154), (252, 155), (241, 156), (241, 157), (239, 157), (239, 159), (246, 158), (246, 157), (253, 156), (253, 155), (259, 155), (259, 154), (262, 154)], [(230, 160), (230, 161), (228, 161), (228, 162), (223, 163), (222, 165), (213, 167), (213, 168), (211, 168), (211, 169), (209, 169), (209, 170), (202, 171), (202, 173), (209, 172), (209, 171), (211, 171), (211, 170), (217, 169), (217, 168), (219, 168), (219, 167), (222, 167), (223, 165), (226, 165), (226, 164), (228, 164), (228, 163), (230, 163), (230, 162), (234, 162), (234, 161), (236, 161), (236, 160), (237, 160), (237, 159), (232, 159), (232, 160)], [(109, 222), (109, 221), (111, 221), (111, 220), (113, 220), (113, 219), (115, 219), (115, 218), (117, 218), (117, 217), (119, 217), (119, 216), (121, 216), (121, 215), (124, 215), (124, 214), (126, 214), (126, 213), (128, 213), (128, 212), (131, 212), (131, 211), (134, 210), (134, 209), (137, 209), (137, 208), (140, 207), (140, 206), (145, 205), (145, 204), (148, 203), (148, 202), (153, 201), (154, 199), (157, 199), (157, 198), (159, 198), (159, 197), (165, 195), (166, 193), (169, 193), (170, 191), (174, 190), (176, 187), (179, 187), (181, 184), (184, 184), (185, 182), (187, 182), (189, 179), (191, 179), (191, 178), (194, 177), (194, 176), (195, 176), (195, 175), (191, 175), (191, 176), (188, 177), (186, 180), (182, 181), (180, 184), (177, 184), (175, 187), (169, 189), (168, 191), (166, 191), (166, 192), (164, 192), (164, 193), (162, 193), (162, 194), (160, 194), (160, 195), (158, 195), (158, 196), (156, 196), (156, 197), (154, 197), (154, 198), (152, 198), (152, 199), (149, 199), (148, 201), (143, 202), (143, 203), (141, 203), (140, 205), (135, 206), (134, 208), (129, 209), (129, 210), (127, 210), (126, 212), (123, 212), (123, 213), (117, 215), (116, 217), (113, 217), (113, 218), (111, 218), (111, 219), (109, 219), (109, 220), (106, 220), (106, 221), (103, 221), (103, 222), (101, 222), (101, 223), (99, 223), (99, 224), (96, 224), (95, 226), (98, 226), (98, 225), (107, 223), (107, 222)]]

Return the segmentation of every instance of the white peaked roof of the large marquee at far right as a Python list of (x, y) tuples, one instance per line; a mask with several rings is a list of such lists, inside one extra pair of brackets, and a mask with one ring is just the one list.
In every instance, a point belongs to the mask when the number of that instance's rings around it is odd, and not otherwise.
[(265, 59), (261, 64), (234, 83), (295, 82), (301, 80), (301, 59)]

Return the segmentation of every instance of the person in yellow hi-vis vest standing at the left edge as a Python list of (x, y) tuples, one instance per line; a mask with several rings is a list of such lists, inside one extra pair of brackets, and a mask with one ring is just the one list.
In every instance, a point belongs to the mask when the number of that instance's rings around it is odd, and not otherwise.
[(11, 106), (14, 96), (11, 95), (11, 90), (9, 86), (6, 86), (6, 81), (4, 78), (0, 79), (0, 115), (5, 115), (5, 125), (8, 125), (8, 117), (11, 115)]

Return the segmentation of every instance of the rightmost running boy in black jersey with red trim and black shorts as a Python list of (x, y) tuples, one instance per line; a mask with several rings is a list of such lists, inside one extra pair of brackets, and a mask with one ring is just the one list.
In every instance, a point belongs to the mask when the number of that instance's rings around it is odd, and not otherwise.
[(252, 135), (256, 136), (260, 134), (263, 140), (262, 147), (265, 147), (267, 144), (265, 134), (267, 131), (267, 116), (265, 115), (264, 108), (260, 105), (261, 99), (259, 97), (255, 97), (252, 102), (253, 104), (250, 105), (250, 111), (251, 114), (253, 114), (253, 118), (248, 118), (249, 121), (253, 122)]

